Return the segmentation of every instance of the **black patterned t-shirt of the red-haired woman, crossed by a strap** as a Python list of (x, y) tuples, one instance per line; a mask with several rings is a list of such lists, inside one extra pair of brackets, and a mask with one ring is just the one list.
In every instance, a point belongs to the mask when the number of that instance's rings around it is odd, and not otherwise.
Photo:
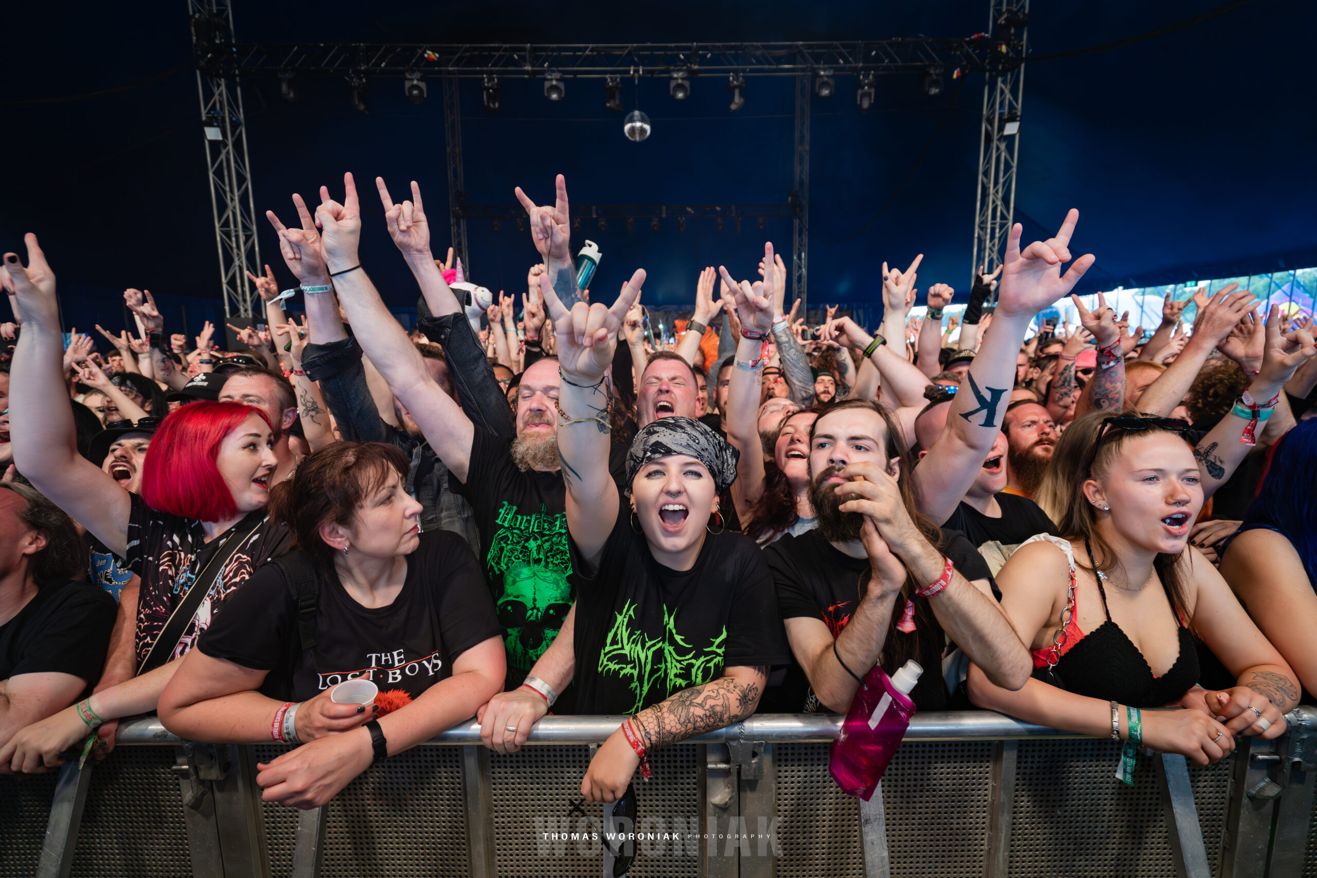
[[(153, 509), (136, 494), (130, 494), (129, 500), (128, 569), (142, 578), (137, 592), (136, 638), (137, 661), (141, 662), (150, 654), (155, 638), (203, 567), (216, 552), (228, 550), (233, 529), (207, 542), (200, 521)], [(271, 521), (263, 509), (250, 516), (259, 516), (261, 523), (242, 540), (242, 545), (233, 548), (215, 579), (207, 583), (205, 596), (182, 638), (170, 644), (170, 658), (179, 658), (192, 648), (196, 637), (209, 627), (220, 602), (245, 583), (257, 567), (288, 549), (291, 538), (284, 525)], [(246, 523), (248, 519), (242, 519), (234, 527)]]

